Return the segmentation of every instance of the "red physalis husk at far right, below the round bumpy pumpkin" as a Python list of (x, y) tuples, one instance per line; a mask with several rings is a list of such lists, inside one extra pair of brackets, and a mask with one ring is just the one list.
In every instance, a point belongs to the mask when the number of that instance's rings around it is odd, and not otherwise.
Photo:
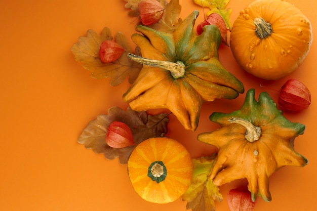
[(309, 107), (311, 95), (308, 88), (299, 80), (289, 79), (282, 86), (279, 104), (290, 111), (300, 111)]

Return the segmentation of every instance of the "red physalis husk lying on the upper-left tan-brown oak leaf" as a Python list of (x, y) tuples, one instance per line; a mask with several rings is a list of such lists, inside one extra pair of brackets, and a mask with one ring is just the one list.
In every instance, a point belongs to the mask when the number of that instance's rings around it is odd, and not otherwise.
[(100, 45), (99, 56), (102, 62), (110, 63), (120, 58), (124, 52), (125, 49), (115, 41), (105, 40)]

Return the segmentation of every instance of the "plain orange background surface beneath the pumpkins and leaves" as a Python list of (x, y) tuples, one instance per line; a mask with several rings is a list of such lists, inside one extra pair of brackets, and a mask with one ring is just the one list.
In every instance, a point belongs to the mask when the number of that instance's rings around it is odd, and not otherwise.
[[(231, 23), (252, 0), (231, 0)], [(289, 0), (307, 16), (317, 29), (315, 0)], [(82, 64), (74, 61), (70, 48), (88, 29), (100, 33), (107, 26), (115, 34), (130, 37), (137, 18), (128, 16), (125, 1), (8, 1), (0, 4), (0, 210), (2, 211), (101, 211), (101, 210), (186, 210), (181, 199), (169, 204), (153, 204), (133, 190), (127, 166), (118, 159), (107, 160), (77, 143), (77, 137), (90, 120), (108, 108), (128, 104), (122, 95), (129, 88), (126, 80), (118, 87), (109, 78), (93, 79)], [(203, 9), (191, 0), (180, 0), (183, 19), (193, 10)], [(206, 12), (208, 10), (206, 9)], [(309, 160), (303, 168), (287, 166), (270, 178), (272, 201), (258, 198), (255, 210), (317, 210), (317, 43), (315, 36), (304, 63), (287, 78), (277, 81), (256, 79), (235, 63), (228, 47), (220, 47), (223, 65), (239, 78), (245, 90), (256, 88), (256, 97), (267, 91), (275, 102), (289, 78), (296, 78), (310, 89), (312, 104), (306, 110), (285, 112), (286, 118), (306, 125), (304, 135), (295, 139), (295, 150)], [(131, 42), (131, 46), (133, 47)], [(213, 146), (196, 140), (199, 133), (218, 125), (209, 121), (213, 111), (240, 109), (245, 94), (235, 100), (205, 103), (199, 128), (182, 128), (170, 117), (167, 136), (183, 143), (192, 157), (216, 152)], [(155, 111), (152, 111), (155, 113)], [(226, 194), (245, 184), (234, 181), (220, 187), (223, 201), (216, 210), (228, 211)]]

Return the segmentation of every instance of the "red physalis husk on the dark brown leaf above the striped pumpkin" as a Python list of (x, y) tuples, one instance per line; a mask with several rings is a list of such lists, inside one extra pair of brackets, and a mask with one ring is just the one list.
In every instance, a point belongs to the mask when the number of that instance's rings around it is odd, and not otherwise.
[(135, 145), (129, 126), (120, 121), (113, 121), (108, 128), (106, 143), (113, 148)]

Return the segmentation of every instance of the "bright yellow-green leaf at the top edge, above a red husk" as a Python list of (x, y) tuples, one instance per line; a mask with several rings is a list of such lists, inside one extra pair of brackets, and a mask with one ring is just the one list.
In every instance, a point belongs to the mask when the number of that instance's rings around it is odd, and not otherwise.
[(210, 11), (207, 13), (207, 17), (212, 13), (219, 14), (224, 22), (226, 23), (227, 29), (231, 29), (230, 15), (232, 12), (231, 8), (226, 9), (230, 0), (192, 0), (195, 4), (202, 7), (207, 7)]

